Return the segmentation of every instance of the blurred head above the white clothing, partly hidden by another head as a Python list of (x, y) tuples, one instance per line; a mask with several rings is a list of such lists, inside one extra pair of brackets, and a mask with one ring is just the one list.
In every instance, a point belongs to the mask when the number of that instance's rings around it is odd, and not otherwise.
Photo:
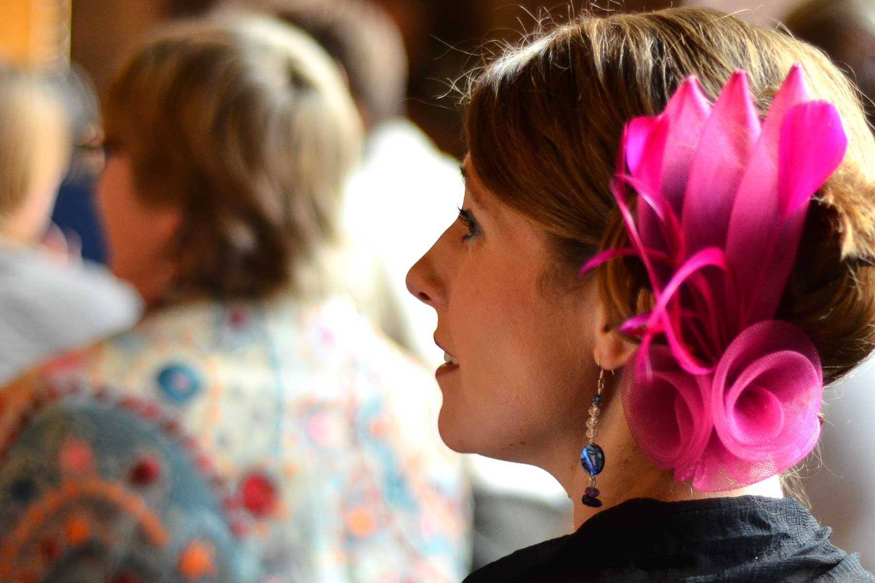
[[(232, 0), (227, 5), (239, 3)], [(407, 55), (401, 31), (370, 0), (255, 0), (243, 3), (315, 38), (343, 69), (367, 128), (404, 115)]]

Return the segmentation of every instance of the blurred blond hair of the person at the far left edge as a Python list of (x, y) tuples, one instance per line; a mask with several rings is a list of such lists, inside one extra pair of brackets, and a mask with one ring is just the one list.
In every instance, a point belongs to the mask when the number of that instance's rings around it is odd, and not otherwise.
[(0, 64), (0, 228), (14, 217), (42, 172), (58, 181), (68, 161), (70, 127), (49, 80)]

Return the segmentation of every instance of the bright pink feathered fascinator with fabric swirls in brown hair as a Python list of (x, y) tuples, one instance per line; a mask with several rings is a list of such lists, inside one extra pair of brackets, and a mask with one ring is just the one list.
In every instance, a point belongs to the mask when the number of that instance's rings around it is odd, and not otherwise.
[(820, 358), (774, 316), (809, 201), (846, 147), (836, 108), (809, 99), (798, 65), (761, 123), (739, 71), (713, 106), (690, 77), (661, 115), (627, 124), (612, 191), (632, 246), (581, 272), (644, 264), (654, 308), (620, 327), (641, 337), (621, 392), (635, 440), (677, 481), (740, 488), (814, 448)]

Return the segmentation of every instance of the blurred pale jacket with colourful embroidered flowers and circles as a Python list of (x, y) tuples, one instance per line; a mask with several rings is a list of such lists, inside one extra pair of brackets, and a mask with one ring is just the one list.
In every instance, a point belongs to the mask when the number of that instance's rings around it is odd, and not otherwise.
[(458, 581), (438, 399), (343, 299), (160, 310), (0, 392), (0, 581)]

